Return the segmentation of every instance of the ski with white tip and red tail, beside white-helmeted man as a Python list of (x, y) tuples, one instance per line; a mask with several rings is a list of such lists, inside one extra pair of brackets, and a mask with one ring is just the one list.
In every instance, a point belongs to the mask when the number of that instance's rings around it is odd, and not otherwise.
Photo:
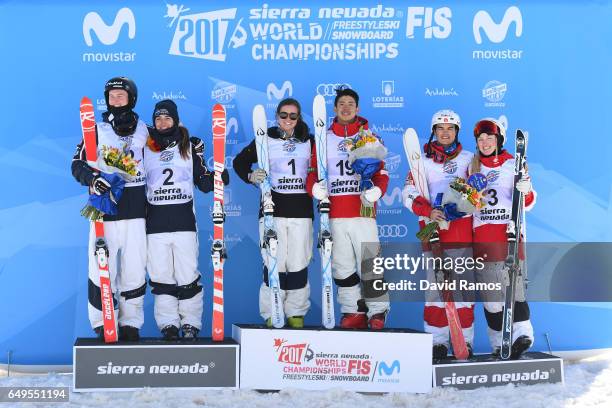
[[(419, 194), (430, 200), (427, 178), (425, 176), (425, 165), (423, 164), (423, 152), (416, 131), (412, 128), (407, 129), (404, 133), (403, 142), (406, 157), (408, 158), (408, 165), (410, 166), (410, 173), (412, 174), (412, 180)], [(423, 220), (425, 223), (431, 222), (427, 217), (419, 217), (419, 220)], [(429, 244), (434, 258), (444, 258), (444, 250), (442, 249), (440, 236), (437, 231), (430, 238)], [(436, 270), (435, 277), (438, 283), (448, 281), (450, 279), (450, 271)], [(446, 287), (446, 285), (444, 287)], [(446, 320), (448, 321), (453, 354), (458, 360), (466, 360), (469, 356), (469, 351), (465, 343), (465, 338), (463, 337), (463, 330), (461, 329), (461, 322), (459, 321), (459, 313), (455, 307), (453, 293), (445, 289), (441, 291), (441, 296), (444, 302)]]

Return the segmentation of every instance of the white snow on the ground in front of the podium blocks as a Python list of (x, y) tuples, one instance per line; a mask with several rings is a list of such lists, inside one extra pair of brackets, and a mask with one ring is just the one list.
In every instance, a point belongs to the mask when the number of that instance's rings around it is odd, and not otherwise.
[[(0, 372), (0, 387), (70, 387), (71, 374), (23, 375)], [(565, 362), (565, 385), (500, 386), (471, 391), (434, 389), (431, 394), (364, 395), (342, 390), (284, 390), (259, 393), (249, 390), (184, 391), (143, 389), (134, 392), (71, 393), (69, 403), (49, 407), (288, 407), (288, 408), (554, 408), (612, 406), (612, 353), (578, 362)], [(41, 404), (0, 403), (0, 408), (40, 407)]]

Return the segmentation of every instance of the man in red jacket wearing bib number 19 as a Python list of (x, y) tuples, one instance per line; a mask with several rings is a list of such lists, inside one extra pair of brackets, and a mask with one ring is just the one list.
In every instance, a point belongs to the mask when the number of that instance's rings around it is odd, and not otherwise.
[(373, 289), (374, 280), (363, 279), (369, 273), (361, 270), (362, 261), (373, 259), (379, 252), (376, 248), (374, 253), (363, 253), (362, 248), (362, 243), (378, 247), (376, 210), (372, 217), (361, 216), (360, 210), (362, 202), (372, 207), (382, 197), (387, 190), (389, 176), (383, 162), (372, 177), (373, 187), (360, 191), (360, 177), (349, 165), (349, 152), (345, 145), (345, 138), (355, 136), (362, 127), (368, 129), (368, 121), (357, 115), (357, 92), (338, 88), (334, 112), (336, 117), (326, 136), (327, 183), (317, 180), (317, 155), (313, 149), (307, 189), (317, 200), (329, 198), (330, 201), (332, 273), (338, 286), (338, 303), (342, 312), (340, 327), (366, 329), (369, 326), (380, 330), (385, 326), (389, 302), (380, 299), (381, 294)]

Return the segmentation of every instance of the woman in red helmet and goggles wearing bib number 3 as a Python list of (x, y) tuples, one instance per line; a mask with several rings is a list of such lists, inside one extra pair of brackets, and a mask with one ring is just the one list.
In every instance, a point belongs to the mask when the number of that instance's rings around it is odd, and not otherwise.
[[(504, 149), (506, 130), (495, 119), (485, 118), (478, 121), (474, 126), (474, 137), (478, 152), (470, 166), (470, 173), (482, 173), (488, 180), (487, 205), (474, 214), (474, 257), (483, 257), (485, 260), (485, 268), (476, 271), (476, 279), (479, 282), (503, 283), (508, 280), (504, 260), (508, 255), (506, 227), (512, 212), (515, 160)], [(527, 173), (517, 181), (516, 189), (524, 194), (525, 210), (531, 210), (536, 201), (536, 193)], [(519, 257), (521, 264), (524, 264), (522, 252), (519, 250)], [(521, 265), (521, 270), (524, 270), (523, 268), (524, 265)], [(519, 275), (516, 288), (512, 325), (513, 359), (520, 357), (533, 344), (533, 327), (529, 320), (529, 305), (525, 299), (524, 274)], [(482, 298), (489, 341), (493, 354), (498, 356), (502, 337), (503, 298), (500, 298), (499, 292), (482, 293)]]

